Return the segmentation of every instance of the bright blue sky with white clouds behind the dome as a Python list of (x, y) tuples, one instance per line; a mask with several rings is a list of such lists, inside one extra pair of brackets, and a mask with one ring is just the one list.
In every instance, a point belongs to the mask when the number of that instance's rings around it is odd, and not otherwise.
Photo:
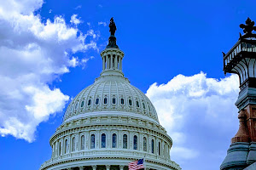
[[(102, 71), (114, 18), (123, 71), (152, 100), (184, 170), (218, 169), (238, 128), (238, 78), (222, 51), (255, 1), (0, 3), (0, 169), (38, 169), (65, 107)], [(168, 105), (163, 105), (168, 104)]]

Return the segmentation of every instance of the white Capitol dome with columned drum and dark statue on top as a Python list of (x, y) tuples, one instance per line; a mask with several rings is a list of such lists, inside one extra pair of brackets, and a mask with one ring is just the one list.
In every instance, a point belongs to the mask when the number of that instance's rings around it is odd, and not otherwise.
[(129, 162), (143, 157), (148, 170), (180, 170), (154, 105), (124, 77), (113, 19), (109, 27), (101, 76), (67, 106), (49, 139), (52, 156), (40, 170), (128, 170)]

